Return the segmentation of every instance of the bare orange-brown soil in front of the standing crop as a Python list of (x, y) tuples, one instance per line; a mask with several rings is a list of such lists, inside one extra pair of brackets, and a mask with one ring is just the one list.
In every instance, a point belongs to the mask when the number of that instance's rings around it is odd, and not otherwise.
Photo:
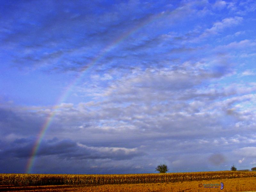
[[(224, 183), (224, 189), (204, 188), (204, 184)], [(202, 185), (200, 185), (202, 184)], [(202, 186), (202, 187), (200, 187)], [(256, 178), (238, 178), (238, 179), (217, 179), (202, 181), (186, 181), (176, 183), (148, 183), (148, 184), (118, 184), (118, 185), (51, 185), (51, 186), (0, 186), (0, 191), (62, 191), (62, 192), (235, 192), (235, 191), (256, 191)]]

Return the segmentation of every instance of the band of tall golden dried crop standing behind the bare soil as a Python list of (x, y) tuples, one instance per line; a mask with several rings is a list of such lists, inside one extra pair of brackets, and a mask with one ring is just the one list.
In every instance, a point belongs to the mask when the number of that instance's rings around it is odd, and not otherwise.
[(0, 174), (0, 185), (103, 185), (163, 183), (194, 180), (231, 179), (256, 177), (256, 172), (193, 172), (193, 173), (149, 173), (120, 175), (72, 175), (72, 174)]

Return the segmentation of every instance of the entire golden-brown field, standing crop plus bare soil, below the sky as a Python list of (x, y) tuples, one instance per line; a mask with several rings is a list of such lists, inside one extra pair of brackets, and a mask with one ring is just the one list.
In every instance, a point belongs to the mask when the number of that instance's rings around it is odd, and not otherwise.
[(220, 182), (224, 183), (224, 189), (221, 191), (256, 191), (256, 172), (129, 175), (0, 174), (0, 191), (199, 192), (220, 191)]

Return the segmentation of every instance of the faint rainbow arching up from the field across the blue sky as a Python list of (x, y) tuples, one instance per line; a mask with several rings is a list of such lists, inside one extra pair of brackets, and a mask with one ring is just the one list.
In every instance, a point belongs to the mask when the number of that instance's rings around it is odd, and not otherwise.
[(35, 162), (36, 159), (36, 153), (39, 149), (39, 146), (44, 138), (45, 132), (46, 130), (50, 127), (50, 125), (52, 124), (53, 118), (56, 115), (57, 109), (59, 108), (58, 104), (63, 103), (66, 98), (68, 97), (69, 93), (71, 92), (71, 90), (74, 88), (74, 86), (81, 80), (81, 78), (84, 76), (86, 71), (89, 71), (89, 69), (91, 69), (101, 58), (103, 58), (108, 52), (110, 52), (111, 50), (113, 50), (114, 48), (116, 48), (121, 42), (123, 42), (127, 37), (133, 35), (134, 33), (136, 33), (139, 29), (141, 29), (142, 27), (145, 27), (146, 25), (148, 25), (151, 22), (156, 21), (157, 19), (159, 19), (160, 17), (163, 17), (165, 15), (164, 12), (159, 13), (155, 16), (151, 16), (148, 19), (144, 20), (143, 22), (140, 23), (140, 25), (137, 25), (136, 27), (132, 28), (131, 30), (128, 30), (126, 33), (124, 33), (123, 35), (120, 35), (114, 42), (110, 43), (108, 46), (106, 46), (104, 49), (102, 49), (100, 51), (100, 53), (86, 66), (84, 66), (81, 70), (81, 72), (79, 73), (79, 75), (75, 78), (74, 81), (72, 81), (66, 88), (66, 91), (64, 92), (64, 94), (62, 96), (60, 96), (60, 98), (58, 99), (57, 105), (55, 105), (52, 108), (52, 112), (48, 115), (48, 117), (46, 118), (40, 133), (37, 136), (36, 142), (33, 146), (31, 155), (28, 159), (28, 163), (26, 166), (26, 173), (30, 173), (31, 169), (33, 167), (33, 164)]

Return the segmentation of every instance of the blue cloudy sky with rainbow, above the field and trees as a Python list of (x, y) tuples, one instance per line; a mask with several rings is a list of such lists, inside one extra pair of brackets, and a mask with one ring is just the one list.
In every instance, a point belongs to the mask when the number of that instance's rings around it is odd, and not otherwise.
[(0, 9), (1, 173), (256, 166), (254, 0)]

